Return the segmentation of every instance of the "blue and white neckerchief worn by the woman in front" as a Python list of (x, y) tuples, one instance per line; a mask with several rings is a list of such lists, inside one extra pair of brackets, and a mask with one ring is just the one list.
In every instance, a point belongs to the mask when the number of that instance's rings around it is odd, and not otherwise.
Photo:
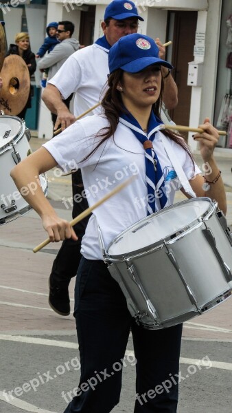
[[(148, 215), (150, 215), (156, 211), (157, 205), (160, 204), (161, 209), (163, 209), (167, 204), (163, 172), (152, 145), (156, 131), (159, 130), (159, 125), (162, 125), (162, 121), (156, 118), (152, 111), (148, 122), (148, 134), (143, 132), (137, 120), (130, 113), (121, 114), (119, 122), (132, 130), (133, 134), (135, 134), (145, 149)], [(159, 207), (157, 209), (159, 209)]]

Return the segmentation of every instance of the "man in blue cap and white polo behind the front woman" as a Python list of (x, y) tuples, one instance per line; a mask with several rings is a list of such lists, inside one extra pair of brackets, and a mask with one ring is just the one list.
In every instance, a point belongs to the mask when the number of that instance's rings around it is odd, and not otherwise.
[[(43, 100), (49, 110), (57, 114), (55, 129), (61, 124), (62, 130), (75, 122), (76, 116), (82, 114), (101, 99), (101, 94), (106, 87), (108, 70), (108, 52), (111, 46), (122, 36), (137, 33), (138, 21), (143, 21), (139, 16), (135, 3), (130, 0), (114, 0), (108, 4), (101, 26), (104, 36), (97, 39), (91, 46), (73, 53), (62, 65), (56, 75), (51, 78), (43, 92)], [(160, 58), (165, 56), (165, 47), (159, 39)], [(161, 68), (164, 81), (163, 102), (167, 109), (174, 108), (177, 103), (177, 87), (170, 70)], [(71, 93), (75, 92), (73, 113), (62, 102)], [(100, 107), (93, 110), (100, 112)], [(73, 218), (88, 207), (86, 198), (82, 196), (83, 185), (80, 171), (72, 174)], [(78, 242), (65, 240), (58, 252), (49, 277), (49, 304), (56, 313), (69, 315), (69, 282), (75, 277), (80, 262), (80, 243), (86, 223), (89, 218), (82, 220), (74, 229), (79, 237)]]

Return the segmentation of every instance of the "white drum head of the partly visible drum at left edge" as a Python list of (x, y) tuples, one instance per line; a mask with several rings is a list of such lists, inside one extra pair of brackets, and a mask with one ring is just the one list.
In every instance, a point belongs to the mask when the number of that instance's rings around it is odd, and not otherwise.
[(23, 129), (23, 123), (16, 116), (0, 116), (0, 153), (11, 141), (17, 140)]

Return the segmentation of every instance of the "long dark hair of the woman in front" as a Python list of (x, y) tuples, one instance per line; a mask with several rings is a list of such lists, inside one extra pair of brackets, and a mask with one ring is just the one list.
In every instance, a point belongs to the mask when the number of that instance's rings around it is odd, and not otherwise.
[[(90, 158), (95, 151), (104, 143), (108, 138), (111, 136), (114, 136), (115, 131), (117, 129), (117, 125), (119, 123), (119, 116), (121, 113), (128, 113), (128, 110), (123, 104), (123, 101), (121, 99), (121, 92), (117, 90), (117, 85), (119, 82), (123, 84), (123, 73), (124, 71), (121, 69), (115, 70), (110, 76), (108, 76), (108, 89), (106, 90), (106, 93), (104, 94), (104, 97), (102, 98), (102, 107), (104, 109), (104, 115), (108, 119), (109, 126), (104, 127), (104, 129), (100, 129), (100, 131), (97, 133), (97, 137), (102, 137), (102, 140), (97, 144), (95, 149), (89, 153), (89, 155), (86, 156), (82, 161), (87, 160)], [(156, 103), (152, 105), (152, 110), (158, 118), (161, 118), (161, 107), (163, 103), (163, 89), (164, 89), (164, 83), (163, 83), (163, 76), (161, 78), (161, 93), (159, 94), (159, 98), (156, 100)], [(192, 153), (189, 150), (189, 147), (187, 146), (187, 143), (185, 142), (185, 138), (181, 135), (174, 134), (173, 131), (170, 129), (162, 129), (162, 133), (165, 136), (168, 136), (170, 139), (174, 140), (178, 145), (183, 147), (185, 151), (189, 154), (189, 156), (192, 158)]]

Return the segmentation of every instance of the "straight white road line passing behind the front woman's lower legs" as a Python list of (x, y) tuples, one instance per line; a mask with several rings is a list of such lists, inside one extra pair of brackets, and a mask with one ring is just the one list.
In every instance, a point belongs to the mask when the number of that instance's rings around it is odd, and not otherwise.
[[(49, 340), (49, 339), (40, 339), (38, 337), (23, 337), (23, 336), (10, 336), (10, 335), (0, 335), (0, 340), (6, 341), (18, 341), (20, 343), (30, 343), (30, 344), (39, 344), (43, 346), (54, 346), (62, 348), (73, 348), (78, 349), (78, 343), (71, 343), (69, 341), (58, 341), (58, 340)], [(135, 357), (135, 352), (133, 350), (126, 350), (126, 356)], [(181, 357), (180, 363), (182, 364), (196, 364), (197, 366), (209, 366), (209, 363), (206, 363), (199, 359), (187, 359), (186, 357)], [(219, 368), (222, 370), (232, 370), (232, 363), (224, 363), (222, 361), (212, 361), (210, 360), (211, 367)]]

